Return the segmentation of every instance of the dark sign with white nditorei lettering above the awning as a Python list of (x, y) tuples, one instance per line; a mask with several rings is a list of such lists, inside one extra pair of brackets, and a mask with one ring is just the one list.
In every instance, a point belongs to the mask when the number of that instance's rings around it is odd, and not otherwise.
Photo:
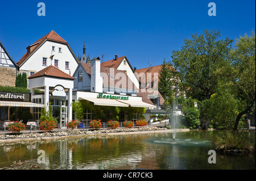
[(30, 102), (30, 94), (19, 92), (0, 92), (0, 100)]

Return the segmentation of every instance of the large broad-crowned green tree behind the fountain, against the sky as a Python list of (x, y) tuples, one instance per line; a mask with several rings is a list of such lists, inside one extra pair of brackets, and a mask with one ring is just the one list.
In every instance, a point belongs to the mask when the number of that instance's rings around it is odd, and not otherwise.
[(209, 99), (216, 92), (222, 66), (229, 62), (233, 40), (220, 39), (220, 31), (205, 30), (203, 34), (185, 39), (181, 50), (172, 51), (172, 66), (177, 70), (180, 87), (187, 96)]

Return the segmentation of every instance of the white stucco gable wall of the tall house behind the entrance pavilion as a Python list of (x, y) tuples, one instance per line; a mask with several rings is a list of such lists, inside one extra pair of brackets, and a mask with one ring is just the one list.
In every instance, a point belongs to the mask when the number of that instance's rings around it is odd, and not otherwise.
[[(52, 52), (52, 46), (55, 47), (55, 51)], [(59, 47), (61, 48), (61, 53), (59, 52)], [(56, 43), (53, 41), (45, 41), (31, 56), (28, 58), (26, 62), (23, 63), (23, 65), (20, 67), (20, 70), (26, 70), (26, 71), (39, 71), (47, 66), (51, 65), (51, 60), (49, 57), (52, 54), (55, 56), (52, 60), (52, 65), (54, 66), (54, 60), (59, 60), (59, 66), (58, 68), (65, 73), (69, 74), (69, 70), (71, 71), (71, 75), (75, 72), (77, 68), (77, 61), (75, 57), (73, 57), (73, 54), (68, 48), (68, 45)], [(43, 57), (47, 58), (47, 65), (43, 65)], [(69, 69), (65, 69), (65, 61), (69, 62)]]

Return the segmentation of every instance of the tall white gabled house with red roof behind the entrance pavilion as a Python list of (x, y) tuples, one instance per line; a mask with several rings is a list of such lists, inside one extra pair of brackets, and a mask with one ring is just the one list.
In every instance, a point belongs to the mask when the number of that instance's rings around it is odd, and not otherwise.
[(27, 52), (16, 64), (19, 70), (27, 71), (28, 76), (49, 65), (72, 75), (79, 62), (68, 42), (55, 31), (51, 31), (34, 44), (29, 45)]

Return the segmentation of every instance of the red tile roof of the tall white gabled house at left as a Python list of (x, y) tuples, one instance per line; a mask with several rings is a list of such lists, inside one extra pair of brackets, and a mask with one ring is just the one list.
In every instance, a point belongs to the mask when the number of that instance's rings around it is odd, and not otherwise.
[[(44, 41), (46, 40), (53, 40), (53, 41), (57, 41), (59, 43), (64, 43), (68, 45), (68, 42), (65, 41), (62, 37), (60, 37), (55, 31), (51, 31), (49, 33), (47, 33), (47, 35), (43, 36), (42, 38), (40, 38), (39, 40), (35, 41), (35, 43), (29, 45), (27, 47), (27, 49), (30, 49), (30, 53), (25, 53), (23, 55), (22, 58), (20, 58), (20, 60), (18, 62), (16, 62), (16, 64), (18, 66), (21, 66), (23, 64), (23, 62), (25, 62), (27, 60), (28, 57), (31, 56), (32, 53), (35, 52), (36, 49), (38, 49), (38, 47), (40, 47), (40, 45), (42, 45), (44, 43)], [(74, 55), (75, 56), (75, 55)], [(76, 56), (75, 56), (76, 57)]]

